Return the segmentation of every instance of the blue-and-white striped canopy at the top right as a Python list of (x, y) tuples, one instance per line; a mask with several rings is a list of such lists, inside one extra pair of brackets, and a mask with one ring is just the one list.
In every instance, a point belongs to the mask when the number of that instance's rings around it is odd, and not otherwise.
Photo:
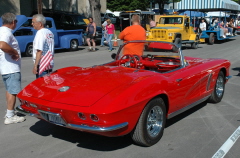
[(209, 11), (240, 11), (240, 5), (231, 0), (182, 0), (178, 3), (178, 9)]

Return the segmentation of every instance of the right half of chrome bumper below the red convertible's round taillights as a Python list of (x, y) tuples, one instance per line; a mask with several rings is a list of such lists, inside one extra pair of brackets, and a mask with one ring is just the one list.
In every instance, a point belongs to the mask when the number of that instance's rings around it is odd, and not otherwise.
[(87, 125), (75, 125), (75, 124), (68, 124), (69, 127), (71, 128), (75, 128), (75, 129), (78, 129), (78, 130), (83, 130), (83, 131), (92, 131), (92, 132), (110, 132), (110, 131), (114, 131), (114, 130), (117, 130), (117, 129), (120, 129), (120, 128), (124, 128), (128, 125), (128, 122), (124, 122), (124, 123), (121, 123), (121, 124), (118, 124), (118, 125), (114, 125), (114, 126), (111, 126), (111, 127), (90, 127), (90, 126), (87, 126)]

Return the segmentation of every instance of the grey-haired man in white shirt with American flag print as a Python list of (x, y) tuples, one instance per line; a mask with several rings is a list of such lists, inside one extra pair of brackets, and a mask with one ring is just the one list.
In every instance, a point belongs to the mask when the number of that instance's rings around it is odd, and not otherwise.
[(46, 19), (42, 14), (36, 14), (32, 18), (32, 25), (35, 30), (38, 30), (33, 40), (33, 74), (36, 78), (42, 77), (53, 69), (54, 55), (54, 35), (44, 28)]

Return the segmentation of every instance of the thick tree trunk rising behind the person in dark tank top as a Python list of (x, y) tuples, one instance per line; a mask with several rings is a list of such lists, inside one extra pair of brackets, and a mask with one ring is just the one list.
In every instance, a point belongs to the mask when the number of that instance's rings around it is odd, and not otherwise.
[(101, 26), (101, 4), (100, 0), (89, 0), (93, 21), (97, 26)]

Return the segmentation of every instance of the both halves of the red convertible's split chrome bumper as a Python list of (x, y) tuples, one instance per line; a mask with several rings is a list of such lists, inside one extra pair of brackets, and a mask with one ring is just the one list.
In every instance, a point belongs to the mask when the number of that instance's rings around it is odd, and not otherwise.
[[(16, 107), (16, 110), (24, 115), (29, 115), (32, 117), (37, 117), (37, 118), (42, 118), (41, 115), (36, 115), (30, 112), (27, 112), (25, 110), (23, 110), (21, 108), (21, 105), (19, 105), (18, 107)], [(44, 119), (44, 118), (42, 118)], [(45, 120), (45, 119), (44, 119)], [(88, 126), (85, 124), (81, 124), (81, 125), (76, 125), (76, 124), (68, 124), (66, 123), (64, 127), (68, 127), (68, 128), (74, 128), (80, 131), (90, 131), (90, 132), (110, 132), (110, 131), (114, 131), (114, 130), (118, 130), (121, 128), (124, 128), (128, 125), (128, 122), (124, 122), (124, 123), (120, 123), (114, 126), (110, 126), (110, 127), (98, 127), (98, 126)]]

